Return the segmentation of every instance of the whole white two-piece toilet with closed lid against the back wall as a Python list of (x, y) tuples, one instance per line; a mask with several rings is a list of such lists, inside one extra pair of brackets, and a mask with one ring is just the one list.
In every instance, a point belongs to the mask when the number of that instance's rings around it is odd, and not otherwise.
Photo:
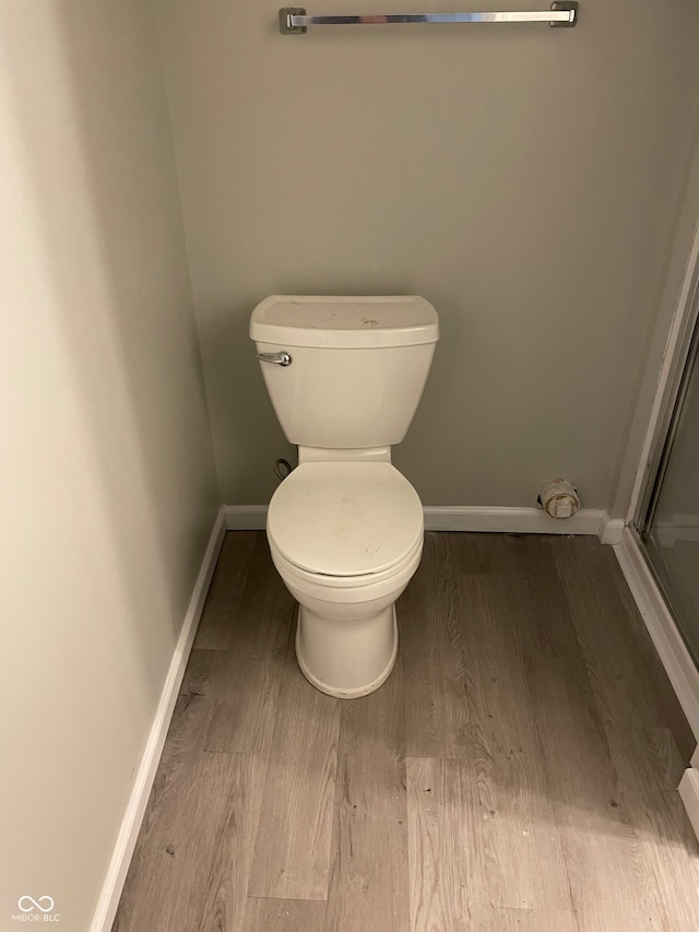
[(391, 465), (439, 338), (422, 297), (273, 295), (250, 318), (298, 467), (270, 502), (274, 565), (300, 604), (296, 657), (331, 696), (378, 689), (398, 652), (394, 603), (417, 569), (423, 507)]

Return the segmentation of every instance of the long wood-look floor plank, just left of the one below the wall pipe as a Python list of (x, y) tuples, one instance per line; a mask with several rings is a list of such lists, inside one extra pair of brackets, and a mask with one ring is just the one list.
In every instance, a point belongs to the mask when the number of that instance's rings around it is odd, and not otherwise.
[(472, 576), (457, 535), (457, 602), (467, 635), (474, 780), (473, 839), (478, 884), (472, 907), (570, 910), (570, 890), (525, 676), (521, 592), (511, 542), (490, 543), (498, 569)]

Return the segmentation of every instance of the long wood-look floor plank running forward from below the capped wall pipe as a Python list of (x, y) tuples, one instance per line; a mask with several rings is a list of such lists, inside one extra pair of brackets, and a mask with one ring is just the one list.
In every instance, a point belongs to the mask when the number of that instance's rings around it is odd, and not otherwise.
[[(510, 580), (572, 905), (580, 932), (664, 929), (667, 916), (603, 723), (611, 697), (617, 696), (627, 727), (626, 704), (637, 684), (632, 671), (626, 670), (625, 679), (614, 663), (589, 663), (601, 603), (593, 586), (562, 578), (561, 554), (570, 543), (523, 542), (519, 570), (510, 573)], [(582, 561), (577, 570), (581, 577), (599, 576), (584, 563), (584, 555)], [(578, 587), (574, 599), (571, 586)]]

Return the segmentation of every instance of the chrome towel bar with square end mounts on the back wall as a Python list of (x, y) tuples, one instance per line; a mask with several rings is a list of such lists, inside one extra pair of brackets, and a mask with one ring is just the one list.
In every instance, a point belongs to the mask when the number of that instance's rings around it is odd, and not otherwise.
[(571, 27), (578, 22), (578, 3), (552, 3), (550, 10), (516, 13), (383, 13), (353, 16), (307, 16), (301, 7), (280, 10), (280, 32), (305, 33), (308, 26), (378, 25), (382, 23), (548, 23)]

